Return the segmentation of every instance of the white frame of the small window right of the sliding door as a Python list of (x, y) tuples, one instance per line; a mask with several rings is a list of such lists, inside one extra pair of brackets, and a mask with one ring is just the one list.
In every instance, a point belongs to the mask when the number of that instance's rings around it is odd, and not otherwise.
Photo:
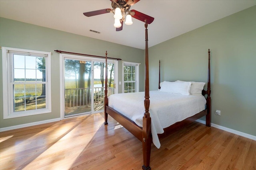
[(127, 62), (127, 61), (123, 61), (122, 62), (122, 83), (123, 83), (123, 86), (122, 86), (122, 93), (124, 93), (124, 66), (135, 66), (135, 92), (139, 92), (139, 87), (140, 87), (140, 84), (139, 84), (139, 70), (140, 70), (140, 63), (132, 63), (132, 62)]

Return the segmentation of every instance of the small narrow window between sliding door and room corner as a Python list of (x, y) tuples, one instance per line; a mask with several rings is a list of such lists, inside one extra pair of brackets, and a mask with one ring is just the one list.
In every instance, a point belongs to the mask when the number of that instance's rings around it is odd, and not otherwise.
[(139, 63), (123, 62), (123, 93), (138, 92)]

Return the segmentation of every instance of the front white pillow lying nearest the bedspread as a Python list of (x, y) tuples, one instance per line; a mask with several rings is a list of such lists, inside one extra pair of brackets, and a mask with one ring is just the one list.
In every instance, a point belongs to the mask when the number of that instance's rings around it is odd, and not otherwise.
[(189, 95), (191, 82), (161, 82), (160, 92)]

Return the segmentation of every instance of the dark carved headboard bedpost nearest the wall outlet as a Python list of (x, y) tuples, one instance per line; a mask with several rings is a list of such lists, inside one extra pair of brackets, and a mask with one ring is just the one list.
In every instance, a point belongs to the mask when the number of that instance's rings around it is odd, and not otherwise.
[(207, 98), (206, 98), (206, 126), (211, 126), (211, 72), (210, 72), (210, 49), (208, 49), (208, 83), (207, 83)]

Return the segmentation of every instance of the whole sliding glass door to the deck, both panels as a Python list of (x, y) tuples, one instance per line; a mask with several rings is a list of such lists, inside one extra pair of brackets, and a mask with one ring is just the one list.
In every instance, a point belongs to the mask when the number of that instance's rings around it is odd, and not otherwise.
[[(117, 93), (117, 61), (110, 61), (108, 70), (108, 96)], [(104, 110), (105, 69), (104, 60), (81, 57), (63, 58), (64, 117), (98, 113)]]

